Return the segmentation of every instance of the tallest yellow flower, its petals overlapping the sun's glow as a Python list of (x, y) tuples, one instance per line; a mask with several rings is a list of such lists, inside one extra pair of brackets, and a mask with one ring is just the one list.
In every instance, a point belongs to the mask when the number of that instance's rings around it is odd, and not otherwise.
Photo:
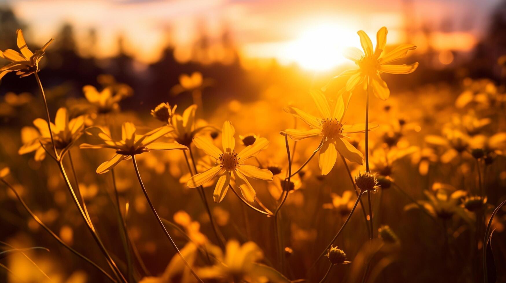
[(387, 100), (390, 96), (390, 89), (388, 89), (387, 83), (381, 78), (380, 74), (409, 74), (416, 70), (418, 63), (410, 65), (391, 64), (405, 57), (407, 52), (416, 49), (416, 46), (401, 44), (388, 53), (384, 52), (388, 30), (386, 27), (382, 27), (376, 34), (376, 49), (373, 51), (369, 36), (363, 30), (359, 30), (357, 33), (360, 36), (360, 44), (364, 52), (358, 48), (350, 48), (345, 53), (346, 58), (357, 64), (356, 69), (345, 71), (340, 75), (350, 77), (346, 83), (346, 91), (352, 91), (355, 86), (364, 83), (364, 89), (369, 85), (377, 98)]

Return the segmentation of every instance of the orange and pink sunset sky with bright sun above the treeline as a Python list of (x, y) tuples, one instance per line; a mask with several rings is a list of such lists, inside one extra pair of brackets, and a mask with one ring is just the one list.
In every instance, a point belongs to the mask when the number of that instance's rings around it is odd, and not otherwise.
[[(347, 46), (359, 47), (356, 31), (389, 28), (389, 43), (415, 41), (421, 50), (423, 27), (434, 32), (436, 49), (471, 49), (487, 26), (499, 0), (0, 0), (30, 26), (36, 42), (54, 37), (63, 23), (74, 26), (78, 44), (97, 29), (97, 56), (117, 52), (124, 36), (126, 51), (149, 63), (171, 41), (186, 50), (198, 30), (219, 38), (227, 29), (241, 54), (276, 58), (308, 69), (342, 63)], [(406, 37), (409, 32), (410, 37)], [(167, 34), (171, 34), (170, 39)], [(425, 45), (427, 43), (425, 42)], [(426, 48), (427, 46), (425, 46)], [(434, 46), (433, 46), (434, 47)]]

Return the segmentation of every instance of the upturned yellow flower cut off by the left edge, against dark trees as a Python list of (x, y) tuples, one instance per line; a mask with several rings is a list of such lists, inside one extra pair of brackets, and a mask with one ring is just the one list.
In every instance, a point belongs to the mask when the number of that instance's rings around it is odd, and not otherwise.
[(5, 65), (0, 68), (0, 79), (2, 79), (7, 73), (16, 71), (16, 75), (20, 77), (29, 76), (35, 72), (38, 72), (38, 62), (44, 55), (46, 54), (46, 48), (48, 48), (49, 44), (53, 41), (51, 38), (40, 50), (35, 51), (35, 53), (31, 52), (26, 45), (25, 38), (23, 36), (23, 31), (21, 29), (16, 30), (18, 35), (18, 48), (19, 52), (8, 49), (4, 52), (0, 51), (0, 58), (7, 59), (12, 63)]

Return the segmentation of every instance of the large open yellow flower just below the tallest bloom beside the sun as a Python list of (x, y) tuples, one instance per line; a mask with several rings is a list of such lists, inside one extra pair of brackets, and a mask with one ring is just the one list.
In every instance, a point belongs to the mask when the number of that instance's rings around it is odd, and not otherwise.
[[(294, 117), (300, 118), (306, 124), (311, 126), (310, 130), (286, 129), (281, 134), (290, 136), (293, 140), (301, 140), (308, 137), (321, 136), (322, 146), (319, 150), (318, 162), (320, 165), (320, 173), (328, 174), (334, 167), (338, 152), (346, 159), (363, 164), (362, 153), (353, 147), (347, 140), (347, 134), (365, 131), (364, 124), (346, 125), (343, 117), (346, 113), (347, 105), (345, 105), (343, 96), (336, 99), (334, 108), (330, 111), (327, 99), (321, 91), (315, 90), (310, 92), (316, 108), (320, 114), (317, 118), (295, 107), (284, 108), (284, 111), (290, 113)], [(378, 125), (370, 125), (369, 129), (378, 127)]]

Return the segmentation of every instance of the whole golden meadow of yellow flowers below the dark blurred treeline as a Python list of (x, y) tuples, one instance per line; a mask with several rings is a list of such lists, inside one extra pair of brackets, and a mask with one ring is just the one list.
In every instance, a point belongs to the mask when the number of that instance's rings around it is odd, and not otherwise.
[(355, 67), (310, 89), (208, 106), (220, 85), (193, 72), (139, 112), (121, 110), (135, 93), (110, 75), (79, 99), (46, 89), (53, 39), (32, 51), (18, 29), (0, 78), (38, 92), (1, 106), (22, 127), (0, 133), (0, 218), (13, 231), (0, 278), (505, 281), (504, 85), (391, 91), (423, 65), (416, 46), (387, 45), (386, 27), (375, 46), (357, 34), (362, 49), (344, 54)]

